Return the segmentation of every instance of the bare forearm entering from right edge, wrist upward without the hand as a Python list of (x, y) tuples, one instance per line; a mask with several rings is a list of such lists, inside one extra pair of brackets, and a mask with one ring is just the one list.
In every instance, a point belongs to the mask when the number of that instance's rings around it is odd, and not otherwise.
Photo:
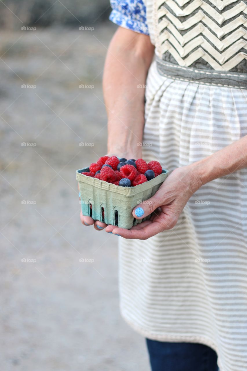
[(247, 136), (189, 167), (201, 185), (247, 167)]

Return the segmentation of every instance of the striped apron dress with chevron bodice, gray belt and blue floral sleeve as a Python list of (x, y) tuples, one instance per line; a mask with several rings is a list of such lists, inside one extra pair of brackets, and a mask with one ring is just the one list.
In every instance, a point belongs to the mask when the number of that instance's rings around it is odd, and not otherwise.
[[(247, 0), (120, 0), (112, 8), (113, 22), (155, 45), (146, 161), (174, 170), (247, 134)], [(203, 185), (172, 230), (121, 238), (119, 270), (121, 313), (137, 332), (208, 345), (221, 371), (247, 370), (247, 169)]]

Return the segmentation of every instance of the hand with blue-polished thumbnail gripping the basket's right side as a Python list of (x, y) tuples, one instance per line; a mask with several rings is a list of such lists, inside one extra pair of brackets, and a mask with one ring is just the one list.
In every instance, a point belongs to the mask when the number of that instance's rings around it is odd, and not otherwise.
[[(189, 165), (172, 171), (155, 195), (143, 201), (132, 211), (136, 219), (142, 219), (155, 211), (150, 220), (137, 224), (129, 230), (109, 225), (106, 227), (106, 232), (127, 239), (146, 240), (159, 232), (173, 228), (187, 201), (201, 186), (200, 179), (192, 169), (193, 167)], [(143, 213), (142, 216), (136, 216), (137, 209), (139, 215)]]

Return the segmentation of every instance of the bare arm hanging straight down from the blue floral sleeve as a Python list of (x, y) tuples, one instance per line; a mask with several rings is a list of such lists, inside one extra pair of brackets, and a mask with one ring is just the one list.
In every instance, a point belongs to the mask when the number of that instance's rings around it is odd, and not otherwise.
[(122, 156), (140, 152), (145, 81), (153, 53), (149, 36), (122, 27), (113, 36), (103, 74), (108, 152)]

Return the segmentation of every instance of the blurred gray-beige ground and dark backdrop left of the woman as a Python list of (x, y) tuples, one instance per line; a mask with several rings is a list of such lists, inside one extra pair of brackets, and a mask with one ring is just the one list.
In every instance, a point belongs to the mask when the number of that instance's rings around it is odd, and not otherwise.
[(110, 11), (108, 0), (0, 1), (4, 371), (149, 370), (119, 314), (120, 237), (79, 219), (75, 171), (106, 153)]

